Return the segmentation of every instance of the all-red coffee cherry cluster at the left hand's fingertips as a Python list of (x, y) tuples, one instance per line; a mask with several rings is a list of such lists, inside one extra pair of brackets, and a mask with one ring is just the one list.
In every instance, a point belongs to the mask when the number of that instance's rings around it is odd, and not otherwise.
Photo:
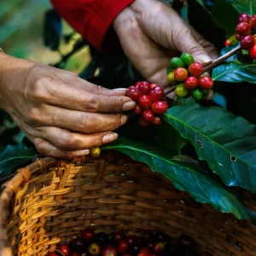
[(128, 88), (126, 96), (137, 102), (133, 113), (140, 115), (141, 126), (160, 125), (160, 116), (168, 110), (168, 103), (163, 100), (164, 94), (160, 85), (149, 84), (147, 81), (137, 82)]

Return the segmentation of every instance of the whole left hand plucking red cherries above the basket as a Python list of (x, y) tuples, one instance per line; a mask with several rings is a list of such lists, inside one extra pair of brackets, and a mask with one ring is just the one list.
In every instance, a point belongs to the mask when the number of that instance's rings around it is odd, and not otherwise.
[(73, 158), (112, 142), (135, 107), (125, 90), (107, 90), (74, 73), (0, 54), (0, 108), (40, 154)]

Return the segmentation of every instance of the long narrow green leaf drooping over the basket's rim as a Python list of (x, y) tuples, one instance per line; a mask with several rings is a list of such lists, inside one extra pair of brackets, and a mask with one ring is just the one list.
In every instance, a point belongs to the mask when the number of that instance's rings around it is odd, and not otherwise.
[(219, 183), (212, 173), (199, 162), (184, 155), (170, 155), (165, 149), (120, 137), (102, 147), (129, 154), (134, 160), (143, 161), (152, 171), (160, 172), (180, 190), (187, 191), (195, 201), (211, 204), (219, 212), (233, 213), (239, 219), (253, 219), (256, 215), (238, 200), (235, 194)]

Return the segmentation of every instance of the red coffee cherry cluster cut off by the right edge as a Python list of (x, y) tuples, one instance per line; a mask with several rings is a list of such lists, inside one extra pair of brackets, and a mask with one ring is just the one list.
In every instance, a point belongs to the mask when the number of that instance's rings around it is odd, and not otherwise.
[(251, 59), (256, 60), (256, 15), (241, 14), (236, 26), (236, 40), (240, 42), (241, 49), (248, 50)]

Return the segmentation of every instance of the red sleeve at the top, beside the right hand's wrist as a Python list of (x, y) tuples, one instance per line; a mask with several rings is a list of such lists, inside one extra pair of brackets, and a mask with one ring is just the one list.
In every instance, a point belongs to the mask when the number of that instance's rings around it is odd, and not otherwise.
[[(109, 30), (113, 20), (134, 0), (50, 0), (70, 26), (96, 49), (107, 51), (116, 44)], [(107, 36), (108, 32), (108, 36)]]

